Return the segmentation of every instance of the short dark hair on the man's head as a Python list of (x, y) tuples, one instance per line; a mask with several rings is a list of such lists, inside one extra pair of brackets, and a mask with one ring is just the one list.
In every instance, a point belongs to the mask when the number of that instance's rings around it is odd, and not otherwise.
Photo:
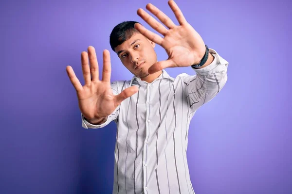
[(110, 47), (113, 51), (115, 51), (114, 48), (128, 40), (133, 35), (133, 33), (138, 32), (134, 28), (135, 23), (139, 22), (124, 21), (113, 28), (113, 30), (110, 33)]

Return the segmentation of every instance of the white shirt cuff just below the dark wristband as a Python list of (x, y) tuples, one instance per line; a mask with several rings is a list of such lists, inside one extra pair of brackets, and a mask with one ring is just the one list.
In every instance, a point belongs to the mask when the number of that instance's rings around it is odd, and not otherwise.
[(212, 63), (210, 65), (207, 65), (201, 69), (196, 69), (196, 68), (192, 67), (192, 69), (194, 69), (197, 74), (211, 75), (212, 73), (217, 71), (216, 69), (218, 68), (218, 66), (227, 64), (227, 62), (225, 63), (225, 60), (219, 56), (219, 54), (216, 52), (216, 50), (209, 49), (209, 52), (210, 52), (210, 54), (212, 54), (214, 56), (214, 60), (212, 61)]

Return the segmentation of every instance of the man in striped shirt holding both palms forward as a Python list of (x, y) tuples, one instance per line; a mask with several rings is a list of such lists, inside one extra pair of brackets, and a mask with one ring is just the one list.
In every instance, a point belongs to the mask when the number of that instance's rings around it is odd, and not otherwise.
[[(134, 75), (131, 80), (110, 84), (108, 50), (103, 52), (102, 80), (93, 47), (88, 48), (90, 65), (82, 52), (84, 86), (67, 66), (82, 126), (117, 124), (113, 194), (194, 194), (186, 159), (190, 120), (227, 81), (228, 62), (208, 49), (173, 0), (168, 4), (179, 26), (152, 4), (146, 9), (168, 29), (144, 10), (137, 12), (164, 38), (133, 21), (117, 25), (110, 34), (111, 48)], [(155, 44), (166, 50), (166, 61), (157, 62)], [(164, 70), (181, 66), (191, 66), (197, 75), (174, 79)]]

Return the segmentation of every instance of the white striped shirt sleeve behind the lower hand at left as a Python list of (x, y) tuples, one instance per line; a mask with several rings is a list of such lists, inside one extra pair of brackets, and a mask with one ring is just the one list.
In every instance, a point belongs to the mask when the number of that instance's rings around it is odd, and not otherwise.
[[(118, 95), (119, 89), (118, 89), (118, 82), (114, 81), (111, 83), (111, 90), (114, 95)], [(107, 116), (106, 122), (104, 122), (101, 125), (93, 125), (89, 123), (87, 120), (85, 120), (84, 115), (81, 113), (81, 121), (82, 121), (82, 127), (85, 129), (98, 129), (103, 128), (107, 126), (111, 121), (117, 122), (118, 116), (120, 113), (120, 105), (109, 115)]]

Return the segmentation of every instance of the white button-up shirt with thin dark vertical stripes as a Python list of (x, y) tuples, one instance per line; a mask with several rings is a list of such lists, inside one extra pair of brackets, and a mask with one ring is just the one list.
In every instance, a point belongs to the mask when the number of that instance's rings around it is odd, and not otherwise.
[(133, 77), (111, 83), (117, 95), (132, 85), (139, 91), (124, 100), (102, 125), (117, 124), (112, 194), (195, 194), (186, 158), (190, 121), (227, 81), (228, 62), (210, 49), (214, 61), (197, 75), (178, 75), (165, 70), (153, 82)]

